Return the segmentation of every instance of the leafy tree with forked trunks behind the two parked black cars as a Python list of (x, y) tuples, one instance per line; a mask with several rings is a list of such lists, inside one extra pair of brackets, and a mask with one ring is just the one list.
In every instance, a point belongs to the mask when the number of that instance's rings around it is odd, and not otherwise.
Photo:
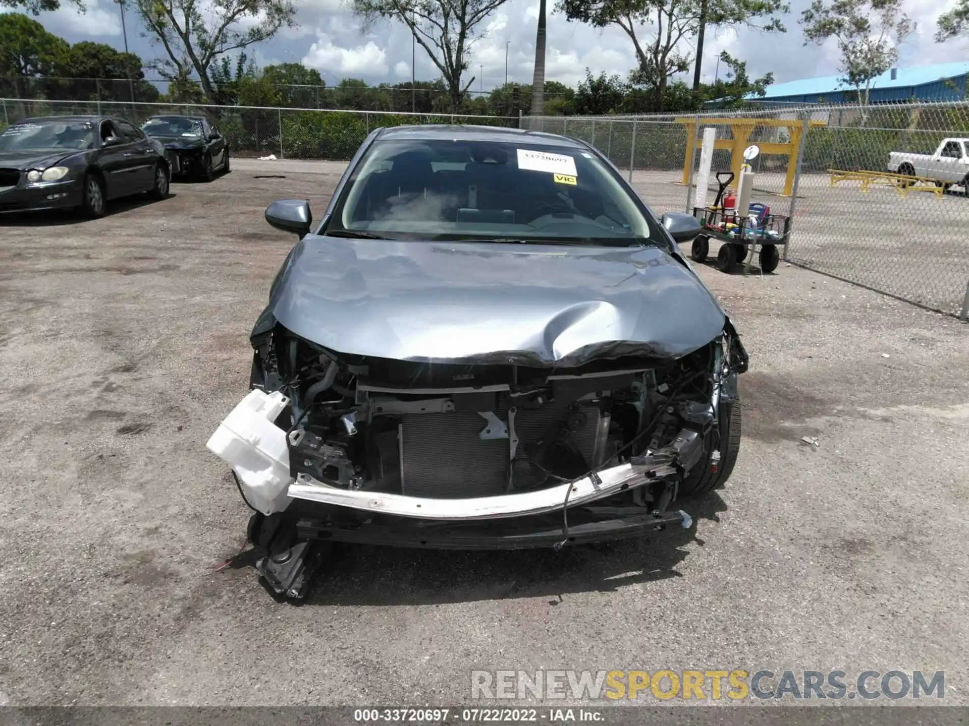
[(213, 65), (292, 26), (296, 13), (292, 0), (135, 0), (135, 6), (145, 37), (167, 56), (154, 69), (179, 84), (197, 76), (211, 104), (219, 103)]

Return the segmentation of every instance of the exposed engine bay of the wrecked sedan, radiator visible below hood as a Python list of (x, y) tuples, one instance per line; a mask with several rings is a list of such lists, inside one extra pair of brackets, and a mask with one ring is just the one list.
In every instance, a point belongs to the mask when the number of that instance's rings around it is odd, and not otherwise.
[(651, 509), (674, 499), (691, 469), (719, 459), (703, 442), (719, 398), (735, 395), (731, 354), (725, 335), (674, 361), (630, 356), (557, 370), (430, 364), (341, 355), (277, 326), (258, 342), (252, 385), (288, 396), (276, 424), (301, 490), (499, 497), (635, 464), (675, 443), (672, 475), (616, 495)]

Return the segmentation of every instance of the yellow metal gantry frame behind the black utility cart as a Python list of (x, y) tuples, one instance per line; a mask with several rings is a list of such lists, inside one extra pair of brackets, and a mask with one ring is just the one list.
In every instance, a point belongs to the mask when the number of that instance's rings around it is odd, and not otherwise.
[[(734, 172), (734, 179), (740, 178), (740, 166), (743, 166), (743, 150), (751, 143), (757, 143), (761, 148), (762, 154), (782, 154), (788, 158), (787, 175), (784, 177), (784, 192), (782, 197), (790, 197), (794, 190), (794, 177), (797, 173), (797, 150), (800, 148), (800, 136), (803, 133), (803, 122), (797, 119), (774, 119), (774, 118), (690, 118), (688, 116), (677, 118), (677, 124), (686, 126), (686, 156), (683, 159), (683, 184), (690, 183), (690, 166), (693, 166), (693, 150), (703, 144), (703, 139), (698, 138), (697, 125), (700, 126), (729, 126), (733, 138), (718, 138), (713, 142), (715, 149), (727, 149), (731, 152), (731, 171)], [(824, 121), (809, 121), (812, 127), (827, 126)], [(790, 141), (755, 141), (750, 137), (754, 134), (754, 129), (758, 126), (769, 126), (773, 128), (787, 129), (791, 137)]]

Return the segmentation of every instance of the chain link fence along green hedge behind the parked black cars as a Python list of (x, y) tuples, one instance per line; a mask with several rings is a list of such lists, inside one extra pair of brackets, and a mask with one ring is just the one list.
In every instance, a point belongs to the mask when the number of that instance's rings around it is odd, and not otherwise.
[(166, 113), (205, 116), (229, 142), (234, 156), (350, 160), (363, 139), (379, 127), (411, 124), (475, 124), (516, 127), (517, 116), (388, 113), (250, 106), (129, 104), (97, 101), (0, 99), (0, 130), (24, 118), (52, 115), (112, 115), (136, 125)]

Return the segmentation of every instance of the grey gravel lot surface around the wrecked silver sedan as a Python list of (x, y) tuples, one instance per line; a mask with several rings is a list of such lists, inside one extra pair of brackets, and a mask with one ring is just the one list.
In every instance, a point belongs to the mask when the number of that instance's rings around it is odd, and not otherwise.
[(345, 547), (300, 607), (217, 571), (248, 512), (204, 443), (295, 241), (263, 210), (322, 213), (343, 168), (233, 167), (96, 222), (0, 219), (0, 704), (453, 704), (472, 669), (762, 667), (945, 670), (969, 704), (969, 328), (783, 262), (700, 269), (751, 371), (694, 530)]

